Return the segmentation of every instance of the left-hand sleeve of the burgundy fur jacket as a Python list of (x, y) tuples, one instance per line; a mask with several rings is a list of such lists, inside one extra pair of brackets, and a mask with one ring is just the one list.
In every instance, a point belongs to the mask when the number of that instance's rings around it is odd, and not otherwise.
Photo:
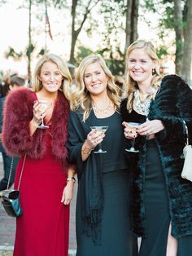
[(23, 156), (33, 146), (29, 132), (29, 122), (33, 118), (32, 92), (19, 89), (9, 93), (4, 104), (2, 143), (7, 152)]

